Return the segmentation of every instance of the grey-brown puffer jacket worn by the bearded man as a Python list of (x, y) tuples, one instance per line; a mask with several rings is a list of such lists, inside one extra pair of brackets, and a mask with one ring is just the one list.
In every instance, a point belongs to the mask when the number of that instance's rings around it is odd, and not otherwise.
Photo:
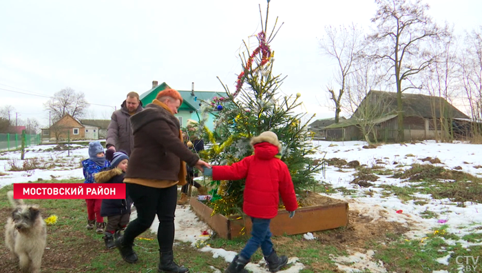
[[(136, 113), (144, 110), (143, 103), (140, 102)], [(109, 127), (107, 128), (106, 147), (114, 146), (117, 151), (123, 150), (130, 155), (134, 149), (134, 137), (132, 136), (131, 115), (127, 110), (126, 102), (121, 105), (121, 109), (116, 110), (110, 117)]]

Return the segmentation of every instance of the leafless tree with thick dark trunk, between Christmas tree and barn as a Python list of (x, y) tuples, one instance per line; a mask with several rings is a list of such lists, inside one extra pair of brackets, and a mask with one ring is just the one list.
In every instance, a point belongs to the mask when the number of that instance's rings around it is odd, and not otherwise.
[(335, 91), (333, 85), (326, 86), (326, 89), (331, 96), (331, 101), (335, 104), (335, 123), (338, 123), (348, 77), (353, 73), (353, 63), (361, 51), (362, 31), (352, 24), (349, 27), (340, 26), (339, 28), (326, 26), (325, 32), (326, 36), (319, 41), (319, 44), (323, 54), (335, 59), (337, 63), (333, 74), (339, 89)]

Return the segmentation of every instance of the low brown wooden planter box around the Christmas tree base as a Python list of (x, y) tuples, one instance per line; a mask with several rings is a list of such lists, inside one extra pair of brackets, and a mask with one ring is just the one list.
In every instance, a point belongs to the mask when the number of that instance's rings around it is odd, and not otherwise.
[[(191, 197), (191, 208), (205, 221), (221, 238), (233, 239), (235, 237), (249, 235), (251, 233), (251, 218), (247, 215), (226, 217), (214, 214), (213, 209), (201, 203), (196, 197)], [(319, 230), (330, 230), (348, 225), (348, 203), (340, 201), (331, 205), (313, 205), (298, 208), (293, 219), (289, 218), (289, 212), (279, 210), (275, 218), (271, 220), (270, 230), (273, 236), (284, 234), (304, 234)], [(244, 227), (245, 230), (242, 230)]]

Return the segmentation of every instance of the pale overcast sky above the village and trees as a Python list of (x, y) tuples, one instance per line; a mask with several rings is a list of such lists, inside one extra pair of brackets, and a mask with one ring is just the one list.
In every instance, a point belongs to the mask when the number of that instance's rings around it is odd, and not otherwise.
[[(457, 32), (482, 26), (480, 0), (426, 0), (435, 21)], [(65, 87), (85, 93), (88, 117), (107, 118), (127, 92), (151, 82), (177, 90), (234, 90), (242, 40), (260, 31), (266, 0), (8, 1), (0, 0), (0, 106), (19, 119), (48, 124), (41, 96)], [(333, 117), (326, 85), (334, 66), (323, 57), (324, 26), (357, 23), (370, 28), (373, 0), (272, 0), (269, 26), (284, 22), (271, 44), (275, 74), (288, 76), (284, 94), (302, 94), (300, 111)], [(14, 90), (11, 92), (7, 90)], [(29, 94), (20, 94), (24, 92)]]

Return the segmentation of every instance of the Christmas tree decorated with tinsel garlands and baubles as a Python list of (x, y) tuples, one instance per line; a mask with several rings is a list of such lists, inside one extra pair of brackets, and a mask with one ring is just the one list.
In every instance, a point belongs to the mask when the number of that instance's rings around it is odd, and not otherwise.
[[(301, 194), (317, 183), (313, 175), (321, 168), (321, 163), (314, 163), (309, 157), (315, 150), (306, 124), (313, 117), (302, 123), (305, 114), (295, 114), (302, 104), (300, 92), (296, 96), (280, 94), (285, 77), (273, 75), (275, 52), (271, 49), (280, 28), (276, 26), (276, 19), (268, 32), (268, 15), (269, 1), (265, 18), (261, 18), (262, 30), (255, 35), (254, 49), (251, 51), (250, 43), (244, 42), (244, 52), (240, 54), (242, 69), (234, 92), (221, 82), (227, 97), (201, 101), (200, 126), (196, 133), (210, 143), (210, 147), (202, 151), (203, 159), (213, 165), (230, 165), (253, 154), (249, 144), (252, 136), (264, 131), (275, 132), (283, 145), (280, 159), (288, 165), (295, 190)], [(216, 116), (213, 131), (205, 126), (209, 112)], [(244, 181), (212, 181), (211, 186), (213, 198), (209, 205), (214, 212), (228, 216), (242, 211)]]

